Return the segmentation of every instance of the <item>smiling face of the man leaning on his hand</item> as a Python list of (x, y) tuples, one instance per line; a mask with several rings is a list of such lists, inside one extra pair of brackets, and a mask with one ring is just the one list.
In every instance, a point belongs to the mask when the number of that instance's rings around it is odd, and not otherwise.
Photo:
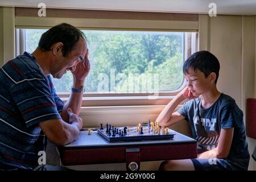
[(61, 53), (61, 55), (57, 57), (51, 72), (53, 78), (61, 78), (67, 71), (75, 70), (76, 64), (84, 60), (86, 52), (86, 42), (84, 39), (80, 38), (75, 49), (73, 49), (67, 56), (63, 57)]

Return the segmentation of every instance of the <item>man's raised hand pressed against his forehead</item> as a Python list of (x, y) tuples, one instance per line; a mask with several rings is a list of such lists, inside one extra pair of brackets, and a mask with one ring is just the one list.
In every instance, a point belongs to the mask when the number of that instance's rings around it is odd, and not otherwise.
[(88, 53), (89, 51), (87, 49), (84, 61), (77, 63), (75, 66), (75, 71), (71, 71), (76, 80), (84, 81), (86, 76), (88, 76), (88, 73), (90, 71), (90, 61), (88, 59)]

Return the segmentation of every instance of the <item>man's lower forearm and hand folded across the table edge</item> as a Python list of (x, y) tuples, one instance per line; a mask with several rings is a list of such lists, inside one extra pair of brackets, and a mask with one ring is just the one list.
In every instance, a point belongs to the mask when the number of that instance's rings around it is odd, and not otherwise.
[(68, 109), (68, 115), (70, 124), (62, 119), (51, 119), (39, 123), (46, 137), (57, 146), (73, 142), (82, 128), (82, 119), (72, 113), (71, 109)]

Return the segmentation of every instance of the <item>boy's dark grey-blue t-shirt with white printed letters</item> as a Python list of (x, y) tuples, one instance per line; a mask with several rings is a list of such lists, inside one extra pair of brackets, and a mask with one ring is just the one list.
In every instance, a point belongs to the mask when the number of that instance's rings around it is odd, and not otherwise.
[(192, 138), (197, 140), (197, 149), (210, 150), (217, 147), (221, 129), (233, 127), (232, 144), (225, 162), (232, 168), (247, 169), (250, 155), (242, 110), (232, 97), (224, 93), (208, 109), (201, 107), (202, 99), (190, 100), (177, 110), (189, 122)]

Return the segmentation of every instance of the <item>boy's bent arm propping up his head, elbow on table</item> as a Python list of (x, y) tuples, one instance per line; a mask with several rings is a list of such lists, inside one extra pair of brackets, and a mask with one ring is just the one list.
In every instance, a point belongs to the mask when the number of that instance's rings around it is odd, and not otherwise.
[(180, 104), (180, 102), (184, 101), (185, 99), (192, 99), (193, 97), (192, 93), (189, 91), (188, 87), (186, 86), (177, 96), (167, 104), (166, 107), (161, 111), (161, 113), (158, 115), (158, 118), (156, 118), (156, 121), (160, 123), (161, 126), (168, 127), (170, 125), (173, 125), (174, 123), (177, 123), (181, 121), (181, 119), (184, 119), (185, 117), (177, 112), (173, 113), (177, 105)]

